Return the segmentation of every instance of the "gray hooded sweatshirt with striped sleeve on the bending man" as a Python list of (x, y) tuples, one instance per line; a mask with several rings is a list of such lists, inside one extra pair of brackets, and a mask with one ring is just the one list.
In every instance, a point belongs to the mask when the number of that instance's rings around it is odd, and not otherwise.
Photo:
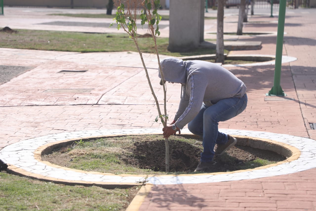
[[(200, 111), (202, 103), (211, 106), (221, 99), (242, 97), (246, 93), (245, 84), (234, 74), (217, 64), (168, 57), (161, 62), (165, 81), (181, 83), (182, 96), (174, 120), (182, 129)], [(159, 71), (159, 78), (161, 78)]]

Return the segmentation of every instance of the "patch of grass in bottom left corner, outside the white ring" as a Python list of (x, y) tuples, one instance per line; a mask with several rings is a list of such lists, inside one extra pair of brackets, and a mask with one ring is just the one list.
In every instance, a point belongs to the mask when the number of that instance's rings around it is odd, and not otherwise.
[(0, 210), (123, 211), (139, 186), (128, 189), (68, 186), (0, 172)]

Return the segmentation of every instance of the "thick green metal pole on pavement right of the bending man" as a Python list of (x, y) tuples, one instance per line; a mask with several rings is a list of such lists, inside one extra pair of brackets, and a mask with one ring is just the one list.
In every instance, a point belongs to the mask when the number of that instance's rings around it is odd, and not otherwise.
[(281, 65), (282, 65), (282, 51), (283, 51), (283, 35), (284, 35), (284, 22), (285, 22), (285, 8), (286, 0), (280, 0), (279, 6), (279, 20), (277, 24), (276, 36), (276, 62), (274, 69), (273, 87), (266, 95), (269, 96), (286, 96), (281, 86)]

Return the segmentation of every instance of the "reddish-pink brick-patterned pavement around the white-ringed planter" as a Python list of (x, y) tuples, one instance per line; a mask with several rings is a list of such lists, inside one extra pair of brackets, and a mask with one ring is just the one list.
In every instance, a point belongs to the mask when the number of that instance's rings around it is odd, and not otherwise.
[[(17, 24), (16, 28), (27, 25), (35, 29), (39, 27), (36, 25), (38, 13), (32, 13), (30, 24), (21, 24), (15, 19), (16, 10), (12, 8), (10, 11), (12, 13), (4, 16), (8, 18), (5, 24), (11, 18), (9, 23), (13, 26)], [(244, 32), (276, 31), (277, 16), (269, 18), (268, 14), (249, 18)], [(237, 29), (236, 17), (225, 18), (224, 30)], [(313, 9), (287, 11), (283, 55), (294, 56), (298, 60), (282, 65), (281, 86), (287, 94), (284, 100), (276, 101), (265, 96), (273, 84), (273, 65), (228, 68), (246, 83), (249, 102), (245, 112), (221, 123), (220, 128), (268, 131), (316, 139), (315, 130), (309, 127), (309, 123), (316, 122), (315, 17)], [(87, 19), (85, 21), (88, 22)], [(1, 19), (0, 24), (3, 25)], [(214, 21), (208, 20), (206, 24), (206, 29), (216, 29)], [(166, 36), (166, 33), (162, 35)], [(275, 54), (276, 36), (231, 37), (240, 41), (262, 41), (262, 49), (232, 51), (230, 54)], [(1, 65), (35, 68), (0, 85), (0, 91), (4, 93), (0, 97), (0, 149), (21, 140), (63, 131), (161, 127), (153, 121), (155, 105), (152, 97), (144, 91), (147, 84), (141, 80), (144, 74), (139, 68), (140, 62), (135, 59), (137, 56), (129, 54), (124, 62), (115, 60), (122, 61), (119, 58), (122, 54), (84, 56), (87, 56), (86, 60), (81, 54), (71, 52), (1, 49)], [(156, 68), (150, 57), (148, 62), (150, 67)], [(58, 73), (65, 69), (88, 71), (81, 74)], [(160, 94), (159, 79), (155, 78), (157, 70), (150, 69), (150, 74), (154, 76), (155, 90)], [(94, 90), (91, 94), (46, 92), (56, 88)], [(178, 107), (179, 90), (176, 85), (168, 89), (168, 113), (173, 116)], [(126, 95), (126, 92), (129, 94)], [(310, 169), (262, 179), (154, 186), (139, 210), (315, 210), (315, 173), (315, 169)]]

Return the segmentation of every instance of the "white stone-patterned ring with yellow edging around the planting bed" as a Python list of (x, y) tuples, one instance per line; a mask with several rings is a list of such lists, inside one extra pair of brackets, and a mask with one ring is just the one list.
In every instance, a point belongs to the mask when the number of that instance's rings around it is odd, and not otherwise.
[[(29, 176), (45, 181), (65, 184), (98, 185), (102, 187), (128, 187), (138, 184), (187, 184), (235, 181), (244, 179), (262, 178), (299, 172), (316, 167), (316, 142), (305, 137), (297, 137), (286, 134), (276, 134), (259, 131), (221, 130), (242, 138), (253, 137), (278, 143), (287, 147), (292, 156), (284, 162), (258, 167), (255, 169), (239, 170), (234, 172), (204, 173), (192, 175), (113, 175), (100, 172), (87, 172), (69, 169), (49, 162), (41, 161), (43, 150), (54, 144), (73, 142), (82, 138), (105, 137), (117, 135), (137, 135), (161, 133), (161, 129), (141, 128), (122, 130), (96, 130), (74, 131), (46, 135), (27, 139), (15, 144), (8, 145), (0, 151), (0, 158), (9, 165), (8, 169), (15, 174)], [(189, 133), (187, 129), (182, 133)], [(48, 150), (48, 149), (47, 149)]]

